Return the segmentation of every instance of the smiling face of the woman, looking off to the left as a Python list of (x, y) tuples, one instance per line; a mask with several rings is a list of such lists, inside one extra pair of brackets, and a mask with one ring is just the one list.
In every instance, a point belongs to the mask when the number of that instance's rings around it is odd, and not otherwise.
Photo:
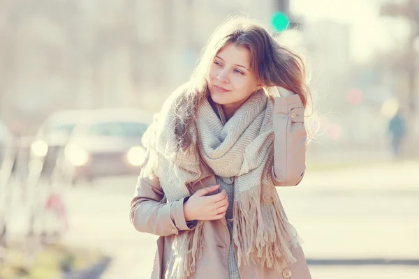
[(209, 76), (212, 100), (230, 109), (237, 110), (251, 93), (262, 88), (250, 68), (249, 50), (234, 43), (228, 43), (216, 54)]

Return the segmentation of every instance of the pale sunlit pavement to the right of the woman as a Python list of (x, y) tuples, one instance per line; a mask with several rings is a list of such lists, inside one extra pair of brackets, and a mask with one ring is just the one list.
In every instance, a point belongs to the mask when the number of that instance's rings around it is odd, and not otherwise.
[(278, 191), (313, 278), (419, 278), (419, 160), (307, 171)]

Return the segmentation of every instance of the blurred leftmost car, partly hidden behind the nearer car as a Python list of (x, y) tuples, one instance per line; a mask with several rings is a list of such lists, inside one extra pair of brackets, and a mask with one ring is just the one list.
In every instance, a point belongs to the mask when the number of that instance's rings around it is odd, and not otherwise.
[(45, 119), (31, 143), (29, 159), (32, 166), (41, 163), (41, 176), (52, 174), (76, 124), (88, 114), (88, 110), (62, 110)]

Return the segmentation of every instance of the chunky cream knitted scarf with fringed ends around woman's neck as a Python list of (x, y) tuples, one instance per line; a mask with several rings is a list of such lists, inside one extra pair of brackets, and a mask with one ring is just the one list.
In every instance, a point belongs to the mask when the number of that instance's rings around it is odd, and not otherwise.
[[(253, 261), (281, 271), (296, 261), (290, 245), (297, 235), (285, 216), (272, 181), (274, 163), (274, 102), (264, 89), (256, 91), (225, 125), (205, 99), (196, 110), (189, 150), (179, 156), (175, 130), (179, 128), (176, 96), (163, 110), (143, 138), (149, 157), (146, 166), (159, 176), (168, 202), (191, 195), (189, 185), (207, 168), (217, 176), (235, 177), (233, 241), (238, 264)], [(203, 160), (205, 164), (201, 163)], [(197, 167), (200, 166), (200, 167)], [(196, 271), (205, 237), (203, 222), (177, 236), (172, 244), (166, 278), (188, 278)]]

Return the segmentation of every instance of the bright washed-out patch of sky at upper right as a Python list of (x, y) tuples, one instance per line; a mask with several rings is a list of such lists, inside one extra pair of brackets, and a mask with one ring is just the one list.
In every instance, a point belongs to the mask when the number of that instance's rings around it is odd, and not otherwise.
[[(400, 0), (397, 0), (400, 1)], [(381, 0), (291, 0), (291, 13), (307, 22), (333, 20), (351, 29), (351, 57), (369, 61), (377, 52), (397, 48), (409, 34), (401, 18), (382, 17)]]

